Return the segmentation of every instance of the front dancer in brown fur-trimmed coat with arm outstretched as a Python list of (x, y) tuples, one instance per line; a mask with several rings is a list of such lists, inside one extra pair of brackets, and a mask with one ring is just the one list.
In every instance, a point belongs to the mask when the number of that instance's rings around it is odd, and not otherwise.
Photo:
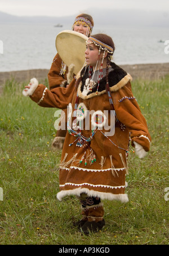
[(75, 225), (88, 234), (105, 225), (102, 199), (128, 202), (129, 142), (143, 158), (151, 138), (132, 94), (131, 76), (110, 61), (112, 38), (97, 34), (88, 38), (86, 47), (86, 66), (68, 88), (50, 91), (32, 79), (24, 94), (42, 107), (69, 106), (57, 198), (75, 195), (81, 200), (83, 218)]

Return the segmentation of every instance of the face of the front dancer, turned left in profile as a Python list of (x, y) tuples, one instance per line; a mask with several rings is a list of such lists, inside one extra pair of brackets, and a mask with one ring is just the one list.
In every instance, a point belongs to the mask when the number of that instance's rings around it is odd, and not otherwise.
[[(91, 43), (92, 41), (88, 40), (87, 42)], [(98, 57), (99, 57), (99, 49), (95, 46), (95, 44), (94, 43), (86, 44), (86, 51), (85, 51), (86, 64), (95, 68)]]

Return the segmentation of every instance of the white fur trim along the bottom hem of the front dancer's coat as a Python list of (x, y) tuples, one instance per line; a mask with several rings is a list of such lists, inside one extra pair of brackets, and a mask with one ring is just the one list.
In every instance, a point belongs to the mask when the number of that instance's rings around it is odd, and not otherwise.
[(72, 195), (80, 197), (82, 193), (86, 193), (89, 197), (100, 197), (100, 199), (118, 200), (118, 201), (121, 201), (122, 203), (127, 203), (129, 201), (127, 194), (112, 194), (112, 193), (98, 192), (98, 191), (90, 190), (87, 188), (61, 190), (59, 193), (57, 193), (57, 199), (61, 201), (63, 197), (72, 196)]

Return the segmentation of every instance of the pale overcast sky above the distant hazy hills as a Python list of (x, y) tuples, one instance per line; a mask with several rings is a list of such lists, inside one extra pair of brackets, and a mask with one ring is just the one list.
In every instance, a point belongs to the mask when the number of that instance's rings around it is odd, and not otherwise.
[(18, 16), (72, 16), (100, 9), (139, 9), (169, 12), (169, 0), (1, 0), (0, 11)]

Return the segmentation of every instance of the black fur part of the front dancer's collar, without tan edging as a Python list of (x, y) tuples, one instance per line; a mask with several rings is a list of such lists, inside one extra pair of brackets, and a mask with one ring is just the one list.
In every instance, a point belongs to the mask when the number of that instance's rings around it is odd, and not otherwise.
[[(121, 81), (127, 75), (127, 72), (124, 71), (121, 67), (117, 66), (114, 62), (112, 62), (110, 65), (112, 69), (109, 71), (108, 80), (109, 80), (109, 86), (110, 88), (112, 88), (112, 86), (117, 85), (119, 81)], [(82, 76), (82, 87), (81, 87), (81, 92), (82, 92), (84, 83), (88, 78), (88, 67), (83, 68), (83, 70), (81, 71), (81, 76)], [(102, 92), (103, 90), (105, 90), (105, 85), (106, 85), (106, 77), (104, 76), (103, 79), (100, 80), (98, 92)], [(92, 92), (89, 92), (88, 95), (96, 92), (96, 89), (97, 89), (97, 84), (94, 86), (94, 88), (92, 88)]]

